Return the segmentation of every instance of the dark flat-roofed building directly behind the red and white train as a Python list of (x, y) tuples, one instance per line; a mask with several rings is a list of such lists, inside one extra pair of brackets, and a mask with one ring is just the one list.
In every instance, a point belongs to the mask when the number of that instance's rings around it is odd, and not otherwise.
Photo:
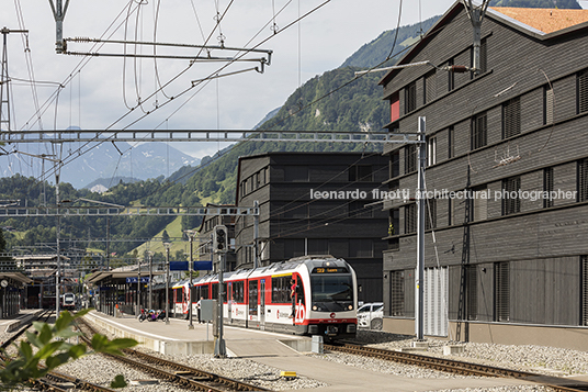
[[(355, 269), (360, 301), (381, 301), (387, 219), (381, 204), (366, 204), (377, 201), (373, 192), (382, 188), (387, 170), (387, 159), (380, 153), (268, 153), (240, 158), (236, 204), (259, 202), (260, 265), (330, 254)], [(237, 268), (253, 265), (253, 216), (235, 222)]]

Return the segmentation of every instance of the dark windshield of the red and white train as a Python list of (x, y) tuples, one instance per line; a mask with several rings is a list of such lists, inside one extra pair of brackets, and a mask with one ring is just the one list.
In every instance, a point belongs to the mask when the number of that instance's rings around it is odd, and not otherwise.
[(351, 276), (312, 275), (313, 307), (319, 312), (341, 312), (353, 305)]

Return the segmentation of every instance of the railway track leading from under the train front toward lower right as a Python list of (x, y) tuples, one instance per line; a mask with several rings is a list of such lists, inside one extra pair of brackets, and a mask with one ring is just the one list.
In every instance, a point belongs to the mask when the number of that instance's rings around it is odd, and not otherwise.
[(384, 360), (391, 360), (405, 365), (414, 365), (428, 369), (445, 371), (450, 373), (456, 373), (462, 376), (478, 376), (478, 377), (502, 377), (513, 378), (519, 380), (525, 380), (535, 382), (545, 387), (550, 387), (556, 391), (562, 392), (578, 392), (588, 391), (588, 382), (579, 382), (576, 380), (569, 380), (559, 377), (543, 376), (536, 373), (530, 373), (525, 371), (519, 371), (513, 369), (498, 368), (493, 366), (486, 366), (480, 363), (465, 362), (453, 359), (430, 357), (425, 355), (392, 351), (381, 348), (366, 347), (350, 343), (342, 345), (325, 345), (324, 348), (330, 351), (346, 352), (352, 355), (360, 355), (365, 357), (373, 357)]

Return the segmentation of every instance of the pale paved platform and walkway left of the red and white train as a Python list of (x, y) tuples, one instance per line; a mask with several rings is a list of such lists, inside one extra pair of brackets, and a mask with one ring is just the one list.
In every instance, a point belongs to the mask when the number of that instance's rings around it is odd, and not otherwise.
[[(97, 311), (90, 312), (86, 317), (117, 337), (135, 338), (158, 352), (191, 355), (214, 351), (212, 324), (193, 322), (194, 329), (189, 329), (185, 320), (170, 318), (169, 325), (165, 322), (140, 323), (131, 315), (112, 317)], [(384, 374), (321, 360), (291, 348), (291, 346), (309, 347), (309, 337), (231, 326), (225, 326), (224, 331), (229, 357), (247, 358), (283, 371), (295, 371), (299, 376), (327, 383), (329, 387), (320, 388), (324, 392), (437, 391), (530, 384), (521, 380), (498, 378), (419, 379)]]

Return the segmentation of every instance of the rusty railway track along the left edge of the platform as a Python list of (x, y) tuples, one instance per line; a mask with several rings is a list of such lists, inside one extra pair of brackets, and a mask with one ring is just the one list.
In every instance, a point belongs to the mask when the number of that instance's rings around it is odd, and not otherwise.
[[(93, 327), (84, 320), (80, 320), (78, 325), (84, 335), (95, 334)], [(88, 344), (90, 343), (89, 339), (84, 339)], [(122, 351), (125, 354), (124, 357), (110, 355), (106, 356), (184, 389), (211, 392), (269, 391), (268, 389), (261, 387), (251, 385), (238, 380), (194, 369), (185, 365), (150, 356), (134, 349), (126, 348)]]

